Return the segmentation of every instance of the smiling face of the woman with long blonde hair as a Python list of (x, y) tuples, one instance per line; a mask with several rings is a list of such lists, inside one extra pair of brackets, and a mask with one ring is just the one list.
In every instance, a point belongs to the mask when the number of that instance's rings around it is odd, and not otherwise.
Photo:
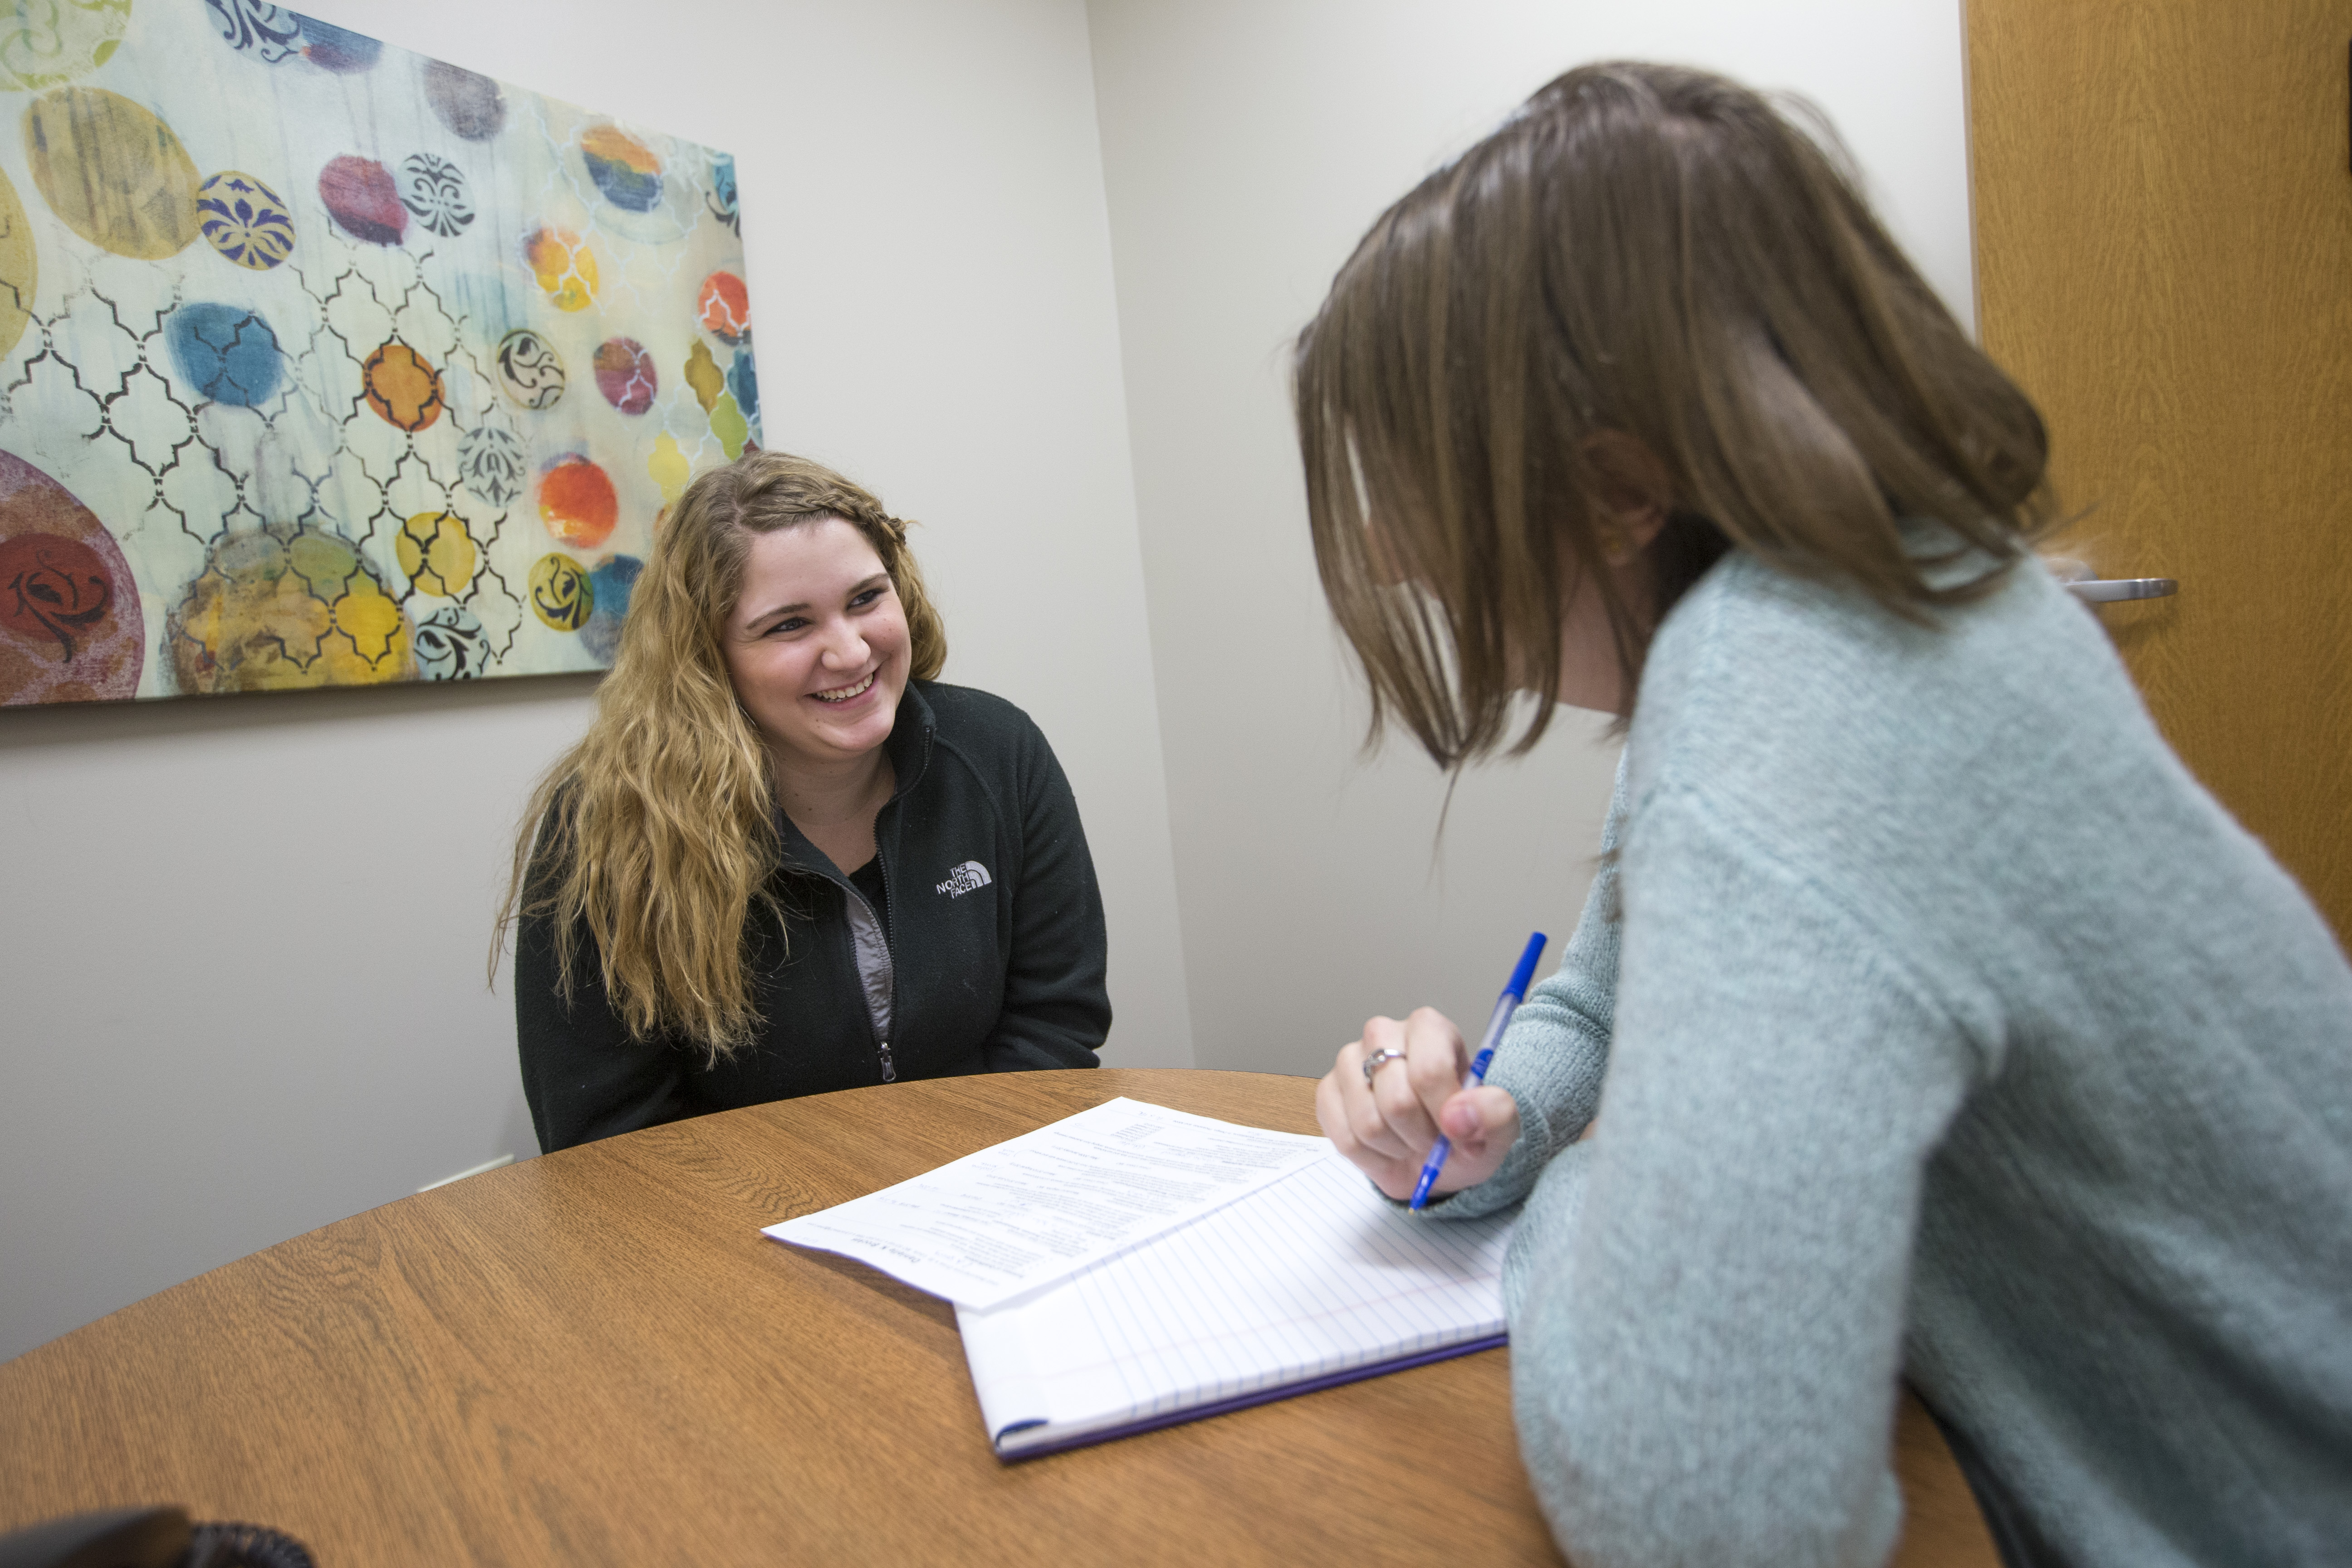
[(779, 771), (840, 769), (889, 741), (906, 611), (854, 524), (821, 517), (753, 538), (720, 646)]

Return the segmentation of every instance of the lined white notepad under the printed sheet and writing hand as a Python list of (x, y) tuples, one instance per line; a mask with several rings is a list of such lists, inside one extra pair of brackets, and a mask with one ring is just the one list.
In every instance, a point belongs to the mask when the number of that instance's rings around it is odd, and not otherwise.
[(1033, 1458), (1503, 1342), (1510, 1215), (1414, 1220), (1327, 1152), (995, 1309), (957, 1307), (1000, 1458)]

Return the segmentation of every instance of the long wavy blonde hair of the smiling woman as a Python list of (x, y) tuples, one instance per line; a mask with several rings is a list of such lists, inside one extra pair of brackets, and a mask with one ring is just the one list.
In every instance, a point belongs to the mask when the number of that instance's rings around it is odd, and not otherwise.
[(736, 701), (720, 628), (760, 534), (840, 517), (882, 557), (906, 609), (910, 675), (934, 679), (948, 632), (906, 548), (906, 522), (842, 475), (783, 451), (694, 480), (654, 529), (595, 722), (532, 792), (492, 938), (492, 978), (520, 917), (553, 917), (557, 985), (581, 961), (630, 1037), (689, 1039), (717, 1063), (760, 1025), (753, 905), (779, 922), (776, 778)]

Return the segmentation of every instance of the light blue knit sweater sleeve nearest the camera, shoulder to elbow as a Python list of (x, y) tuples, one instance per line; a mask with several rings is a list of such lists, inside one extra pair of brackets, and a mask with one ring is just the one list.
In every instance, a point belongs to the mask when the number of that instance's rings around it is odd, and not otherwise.
[(1512, 1408), (1578, 1563), (1879, 1563), (1924, 1166), (1978, 1074), (1837, 889), (1684, 792), (1632, 835), (1592, 1138), (1512, 1241)]

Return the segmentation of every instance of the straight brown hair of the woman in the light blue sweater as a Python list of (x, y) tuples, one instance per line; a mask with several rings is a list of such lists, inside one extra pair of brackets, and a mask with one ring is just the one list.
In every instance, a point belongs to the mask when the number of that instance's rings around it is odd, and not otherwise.
[[(1439, 766), (1512, 752), (1559, 696), (1592, 578), (1639, 686), (1649, 628), (1729, 548), (1910, 618), (1985, 592), (2046, 527), (2032, 402), (1806, 134), (1703, 71), (1583, 66), (1381, 214), (1298, 336), (1315, 564), (1371, 684)], [(1604, 442), (1670, 477), (1658, 604), (1625, 604)], [(1905, 550), (1938, 520), (1950, 550)], [(1938, 571), (1959, 559), (1980, 567)]]

